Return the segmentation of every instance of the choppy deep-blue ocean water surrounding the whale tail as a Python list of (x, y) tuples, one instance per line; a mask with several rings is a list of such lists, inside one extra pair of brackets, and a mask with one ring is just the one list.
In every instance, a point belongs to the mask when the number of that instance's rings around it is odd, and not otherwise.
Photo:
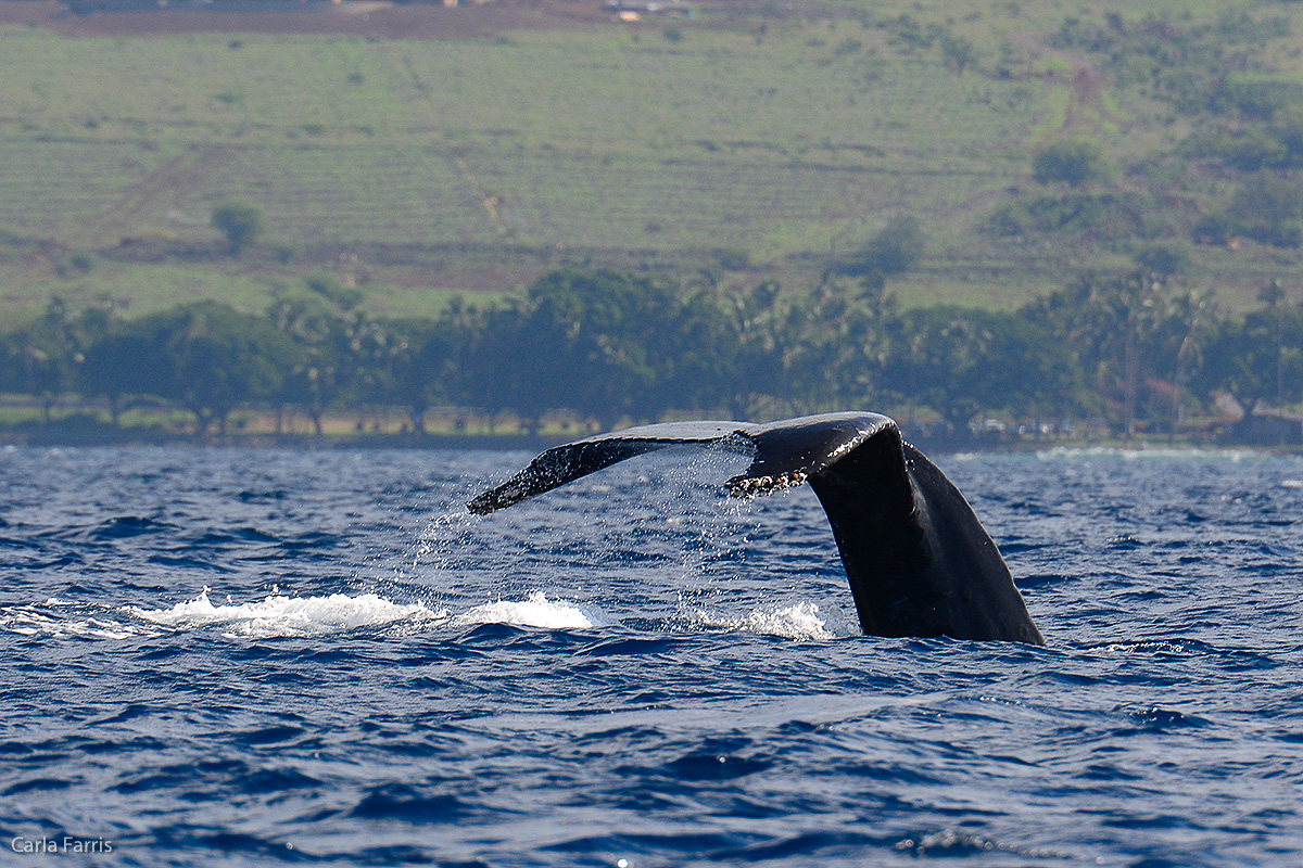
[(0, 452), (0, 864), (1299, 865), (1303, 461), (942, 455), (1045, 648), (667, 450)]

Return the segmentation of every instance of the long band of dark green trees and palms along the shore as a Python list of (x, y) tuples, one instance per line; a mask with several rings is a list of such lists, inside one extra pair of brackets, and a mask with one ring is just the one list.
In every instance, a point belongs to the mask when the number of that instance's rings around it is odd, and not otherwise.
[(503, 307), (453, 301), (437, 319), (374, 318), (330, 281), (262, 315), (215, 302), (125, 319), (53, 299), (0, 342), (0, 392), (184, 407), (199, 433), (236, 409), (306, 415), (431, 407), (537, 433), (550, 413), (589, 427), (671, 416), (777, 418), (834, 409), (973, 420), (1098, 419), (1171, 429), (1218, 396), (1303, 401), (1303, 310), (1276, 284), (1233, 315), (1157, 272), (1084, 275), (1012, 312), (902, 310), (878, 272), (808, 292), (563, 268)]

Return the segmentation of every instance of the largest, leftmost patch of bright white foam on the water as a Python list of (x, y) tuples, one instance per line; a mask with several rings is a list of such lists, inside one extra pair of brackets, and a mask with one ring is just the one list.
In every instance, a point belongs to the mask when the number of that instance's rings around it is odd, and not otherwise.
[(133, 613), (168, 627), (224, 627), (241, 635), (305, 636), (378, 627), (400, 622), (429, 622), (448, 617), (420, 603), (400, 605), (374, 593), (331, 593), (324, 597), (267, 596), (258, 603), (214, 605), (208, 588), (189, 603), (171, 609), (133, 609)]

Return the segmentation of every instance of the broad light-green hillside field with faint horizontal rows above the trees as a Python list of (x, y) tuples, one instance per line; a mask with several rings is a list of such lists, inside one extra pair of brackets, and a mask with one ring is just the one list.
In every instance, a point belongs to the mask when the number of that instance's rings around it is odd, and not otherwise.
[[(877, 34), (848, 27), (702, 47), (609, 33), (90, 40), (76, 61), (66, 39), (8, 33), (30, 72), (7, 73), (0, 98), (0, 221), (68, 243), (190, 237), (214, 200), (242, 195), (287, 243), (490, 243), (506, 229), (782, 255), (1024, 172), (1044, 87), (883, 65), (861, 42)], [(93, 81), (69, 74), (78, 64)]]

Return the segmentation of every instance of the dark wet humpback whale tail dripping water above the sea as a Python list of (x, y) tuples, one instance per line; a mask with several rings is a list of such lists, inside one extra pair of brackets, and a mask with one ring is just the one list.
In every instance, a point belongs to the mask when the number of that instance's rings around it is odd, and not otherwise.
[(549, 449), (468, 505), (487, 514), (645, 452), (714, 445), (752, 455), (727, 480), (737, 497), (809, 483), (823, 505), (865, 634), (1042, 645), (999, 549), (968, 501), (876, 413), (773, 424), (681, 422)]

